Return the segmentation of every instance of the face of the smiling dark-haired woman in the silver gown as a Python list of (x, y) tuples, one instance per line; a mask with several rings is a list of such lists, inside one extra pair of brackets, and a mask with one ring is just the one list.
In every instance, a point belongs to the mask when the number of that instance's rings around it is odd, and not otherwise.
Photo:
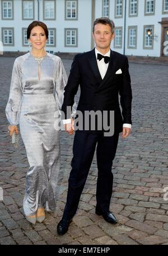
[(45, 47), (46, 43), (45, 31), (41, 26), (35, 26), (30, 33), (29, 42), (32, 45), (32, 48), (42, 49)]

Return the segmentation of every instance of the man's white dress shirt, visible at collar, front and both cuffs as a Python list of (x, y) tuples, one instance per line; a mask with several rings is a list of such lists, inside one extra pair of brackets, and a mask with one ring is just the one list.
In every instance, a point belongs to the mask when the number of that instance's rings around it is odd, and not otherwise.
[[(95, 48), (96, 60), (97, 60), (97, 53), (100, 53), (100, 52)], [(103, 55), (103, 54), (101, 54), (101, 55)], [(110, 49), (109, 49), (109, 52), (107, 52), (104, 56), (110, 57)], [(104, 79), (105, 74), (106, 74), (106, 72), (108, 70), (109, 63), (105, 63), (104, 62), (104, 58), (102, 58), (101, 61), (97, 60), (97, 66), (99, 68), (99, 72), (100, 72), (101, 78)], [(69, 123), (71, 123), (71, 119), (70, 118), (63, 120), (63, 124), (69, 124)], [(123, 124), (123, 127), (128, 127), (128, 128), (131, 129), (132, 125), (130, 125), (130, 124)]]

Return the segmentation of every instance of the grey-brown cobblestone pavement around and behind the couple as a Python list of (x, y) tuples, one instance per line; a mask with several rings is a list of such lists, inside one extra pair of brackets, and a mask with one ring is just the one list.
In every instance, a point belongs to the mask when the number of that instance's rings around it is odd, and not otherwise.
[[(118, 224), (110, 225), (95, 214), (94, 158), (72, 225), (66, 235), (58, 236), (56, 227), (66, 202), (73, 136), (65, 132), (61, 135), (57, 211), (47, 213), (43, 223), (31, 225), (22, 209), (28, 167), (25, 148), (22, 143), (19, 150), (12, 148), (4, 114), (13, 62), (14, 58), (0, 57), (0, 186), (4, 194), (0, 202), (0, 244), (168, 244), (168, 201), (163, 198), (168, 187), (167, 66), (130, 63), (133, 129), (128, 139), (120, 138), (113, 165), (110, 209)], [(63, 62), (69, 72), (72, 61)]]

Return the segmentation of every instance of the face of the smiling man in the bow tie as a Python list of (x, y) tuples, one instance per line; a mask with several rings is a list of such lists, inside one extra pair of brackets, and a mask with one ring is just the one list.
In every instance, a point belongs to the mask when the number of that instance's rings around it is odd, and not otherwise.
[(95, 25), (94, 33), (92, 34), (95, 39), (96, 48), (108, 49), (111, 44), (111, 40), (114, 39), (114, 33), (112, 34), (109, 24), (98, 23)]

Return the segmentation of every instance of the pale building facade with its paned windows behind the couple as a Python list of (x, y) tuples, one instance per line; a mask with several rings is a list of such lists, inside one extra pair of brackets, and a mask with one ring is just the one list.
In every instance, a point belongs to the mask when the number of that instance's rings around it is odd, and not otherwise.
[(115, 22), (114, 51), (168, 57), (168, 0), (0, 0), (0, 41), (4, 52), (30, 51), (26, 28), (40, 20), (49, 29), (47, 51), (86, 52), (94, 47), (92, 24), (102, 16)]

